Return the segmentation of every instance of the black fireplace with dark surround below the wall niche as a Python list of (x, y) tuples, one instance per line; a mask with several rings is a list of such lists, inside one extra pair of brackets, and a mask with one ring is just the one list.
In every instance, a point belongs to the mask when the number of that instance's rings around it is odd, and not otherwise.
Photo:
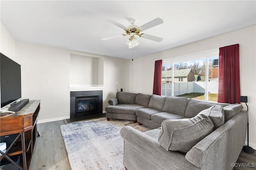
[(70, 119), (102, 117), (102, 91), (70, 91)]

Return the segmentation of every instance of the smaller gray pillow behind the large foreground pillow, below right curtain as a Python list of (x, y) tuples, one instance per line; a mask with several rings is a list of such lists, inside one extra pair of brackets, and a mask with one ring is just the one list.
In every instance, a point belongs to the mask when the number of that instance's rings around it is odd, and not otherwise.
[(206, 115), (214, 124), (214, 128), (218, 128), (224, 124), (224, 109), (220, 105), (214, 105), (209, 109), (205, 109), (198, 113), (198, 115)]

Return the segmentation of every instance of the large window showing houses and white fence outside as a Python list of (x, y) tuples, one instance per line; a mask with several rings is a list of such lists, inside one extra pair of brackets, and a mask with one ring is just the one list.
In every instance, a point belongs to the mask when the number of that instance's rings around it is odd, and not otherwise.
[(219, 50), (163, 60), (162, 95), (217, 101)]

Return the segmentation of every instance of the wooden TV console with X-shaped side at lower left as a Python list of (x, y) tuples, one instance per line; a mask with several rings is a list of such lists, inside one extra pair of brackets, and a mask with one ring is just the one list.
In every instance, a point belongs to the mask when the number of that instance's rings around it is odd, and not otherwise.
[[(28, 170), (36, 142), (37, 118), (40, 111), (40, 100), (30, 100), (15, 113), (0, 114), (0, 136), (18, 134), (6, 152), (1, 152), (0, 160), (6, 158), (20, 170)], [(20, 155), (20, 165), (9, 157)], [(23, 168), (22, 168), (23, 167)]]

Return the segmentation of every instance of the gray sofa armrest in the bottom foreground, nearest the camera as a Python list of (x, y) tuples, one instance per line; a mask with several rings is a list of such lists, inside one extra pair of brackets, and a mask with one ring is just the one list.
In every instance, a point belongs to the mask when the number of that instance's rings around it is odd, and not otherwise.
[(156, 140), (126, 126), (120, 132), (124, 139), (124, 166), (128, 170), (141, 169), (198, 169), (185, 158), (184, 154), (176, 151), (166, 151)]

